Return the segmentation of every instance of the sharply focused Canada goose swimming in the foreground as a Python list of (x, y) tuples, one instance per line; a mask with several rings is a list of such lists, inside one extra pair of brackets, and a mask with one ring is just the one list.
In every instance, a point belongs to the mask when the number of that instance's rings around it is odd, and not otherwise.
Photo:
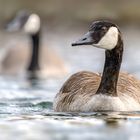
[(101, 77), (88, 71), (72, 75), (56, 95), (54, 110), (59, 112), (140, 110), (140, 82), (130, 74), (119, 74), (123, 40), (118, 26), (107, 21), (93, 22), (89, 32), (72, 44), (77, 45), (93, 45), (106, 50), (103, 75)]

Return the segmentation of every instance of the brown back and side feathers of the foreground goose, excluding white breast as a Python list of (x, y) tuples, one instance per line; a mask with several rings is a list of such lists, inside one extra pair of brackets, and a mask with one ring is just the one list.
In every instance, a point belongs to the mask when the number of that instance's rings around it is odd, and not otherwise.
[[(54, 101), (55, 111), (81, 111), (71, 109), (76, 104), (80, 109), (95, 95), (101, 76), (92, 72), (82, 71), (72, 75), (60, 89)], [(120, 73), (117, 85), (118, 97), (125, 94), (140, 103), (140, 81), (128, 73)], [(139, 94), (138, 94), (139, 93)], [(81, 102), (79, 102), (81, 100)]]

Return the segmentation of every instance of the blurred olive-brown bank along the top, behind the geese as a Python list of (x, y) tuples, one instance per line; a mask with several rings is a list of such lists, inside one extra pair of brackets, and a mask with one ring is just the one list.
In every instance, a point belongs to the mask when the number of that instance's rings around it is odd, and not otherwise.
[(44, 21), (140, 23), (140, 0), (0, 0), (1, 22), (21, 9), (36, 11)]

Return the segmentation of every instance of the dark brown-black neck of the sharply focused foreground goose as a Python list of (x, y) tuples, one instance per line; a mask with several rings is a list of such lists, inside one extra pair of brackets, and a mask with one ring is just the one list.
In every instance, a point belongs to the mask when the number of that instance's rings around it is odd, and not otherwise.
[(122, 54), (123, 41), (119, 34), (116, 47), (105, 52), (106, 58), (103, 75), (96, 94), (117, 96), (117, 81), (122, 62)]

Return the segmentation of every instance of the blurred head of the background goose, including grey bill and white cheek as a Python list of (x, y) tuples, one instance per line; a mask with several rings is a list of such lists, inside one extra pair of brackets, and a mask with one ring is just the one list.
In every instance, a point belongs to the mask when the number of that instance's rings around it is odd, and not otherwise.
[(22, 30), (28, 34), (36, 34), (40, 30), (40, 17), (35, 13), (20, 11), (6, 25), (8, 31)]

